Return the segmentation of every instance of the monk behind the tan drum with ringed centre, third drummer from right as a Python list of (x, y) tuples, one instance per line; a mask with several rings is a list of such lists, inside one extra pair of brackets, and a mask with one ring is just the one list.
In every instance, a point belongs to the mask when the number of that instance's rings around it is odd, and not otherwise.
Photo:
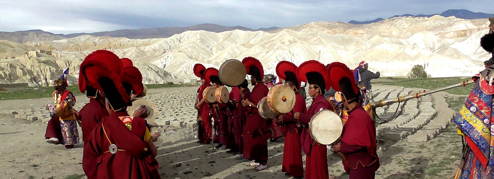
[[(305, 99), (298, 93), (300, 83), (297, 79), (297, 66), (289, 61), (280, 61), (276, 65), (276, 74), (283, 80), (285, 85), (293, 89), (295, 92), (295, 106), (292, 111), (294, 113), (305, 113), (307, 107)], [(292, 176), (295, 179), (304, 177), (304, 166), (302, 161), (302, 149), (300, 145), (300, 134), (302, 126), (300, 121), (293, 118), (293, 113), (288, 113), (278, 116), (278, 121), (285, 128), (285, 146), (283, 147), (283, 164), (282, 172), (285, 175)]]

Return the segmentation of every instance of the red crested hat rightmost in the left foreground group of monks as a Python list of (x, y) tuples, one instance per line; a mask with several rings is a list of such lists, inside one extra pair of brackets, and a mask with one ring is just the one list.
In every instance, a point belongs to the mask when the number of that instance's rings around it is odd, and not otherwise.
[(132, 64), (132, 60), (123, 58), (122, 61), (122, 73), (120, 78), (122, 80), (122, 85), (127, 92), (130, 94), (141, 94), (144, 90), (144, 85), (142, 84), (142, 74), (141, 71)]

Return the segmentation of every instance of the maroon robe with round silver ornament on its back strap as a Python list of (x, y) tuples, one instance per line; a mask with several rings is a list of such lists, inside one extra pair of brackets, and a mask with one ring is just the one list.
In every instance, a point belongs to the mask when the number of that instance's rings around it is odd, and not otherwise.
[[(160, 179), (158, 161), (144, 141), (146, 120), (133, 118), (128, 129), (119, 119), (124, 116), (122, 111), (103, 118), (86, 139), (84, 155), (92, 160), (82, 161), (82, 168), (88, 179)], [(109, 152), (110, 144), (119, 149), (115, 154)]]

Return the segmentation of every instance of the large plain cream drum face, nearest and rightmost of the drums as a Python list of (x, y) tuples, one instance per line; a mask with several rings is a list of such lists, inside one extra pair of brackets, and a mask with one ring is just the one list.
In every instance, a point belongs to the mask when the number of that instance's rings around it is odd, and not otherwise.
[(314, 141), (319, 144), (329, 145), (341, 136), (343, 123), (336, 113), (330, 110), (322, 110), (312, 117), (309, 130)]

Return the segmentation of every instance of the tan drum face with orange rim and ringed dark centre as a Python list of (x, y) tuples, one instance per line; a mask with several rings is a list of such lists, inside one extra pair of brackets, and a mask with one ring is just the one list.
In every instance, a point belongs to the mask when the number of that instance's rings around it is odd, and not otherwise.
[(286, 114), (295, 107), (295, 92), (288, 86), (274, 86), (266, 97), (269, 108), (275, 113)]

